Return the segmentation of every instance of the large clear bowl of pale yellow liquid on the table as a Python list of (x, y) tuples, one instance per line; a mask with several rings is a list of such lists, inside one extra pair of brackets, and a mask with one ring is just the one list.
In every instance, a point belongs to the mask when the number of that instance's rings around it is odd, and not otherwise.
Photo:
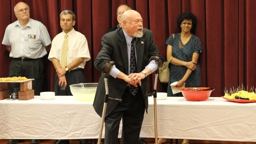
[(70, 91), (78, 101), (93, 102), (98, 83), (79, 83), (70, 85)]

